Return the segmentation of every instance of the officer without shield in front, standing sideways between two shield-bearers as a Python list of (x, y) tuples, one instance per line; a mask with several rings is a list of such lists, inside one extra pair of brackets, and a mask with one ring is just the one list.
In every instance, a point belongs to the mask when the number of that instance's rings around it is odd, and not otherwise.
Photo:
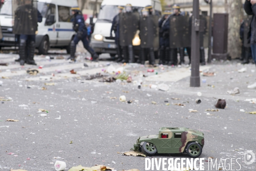
[(163, 17), (158, 23), (159, 37), (160, 37), (160, 60), (159, 64), (167, 64), (170, 59), (169, 47), (169, 29), (170, 29), (170, 12), (164, 13)]

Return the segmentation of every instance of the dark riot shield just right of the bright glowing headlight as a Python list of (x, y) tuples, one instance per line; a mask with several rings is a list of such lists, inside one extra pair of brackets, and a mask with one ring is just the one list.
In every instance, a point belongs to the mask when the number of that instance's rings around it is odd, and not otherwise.
[(140, 18), (140, 46), (142, 48), (159, 47), (159, 27), (156, 15)]

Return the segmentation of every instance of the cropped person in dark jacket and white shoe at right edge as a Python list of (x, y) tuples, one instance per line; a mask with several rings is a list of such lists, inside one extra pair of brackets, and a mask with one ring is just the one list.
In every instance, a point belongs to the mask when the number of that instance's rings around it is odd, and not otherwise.
[[(256, 0), (245, 0), (244, 11), (248, 15), (252, 15), (252, 21), (250, 24), (250, 32), (248, 34), (248, 42), (250, 41), (253, 60), (256, 62)], [(256, 83), (249, 85), (249, 89), (256, 89)]]

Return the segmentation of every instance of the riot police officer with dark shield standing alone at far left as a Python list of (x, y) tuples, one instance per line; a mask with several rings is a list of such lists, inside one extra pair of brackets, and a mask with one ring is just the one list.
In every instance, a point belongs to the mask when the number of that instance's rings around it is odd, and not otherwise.
[[(35, 54), (35, 34), (38, 30), (38, 22), (42, 22), (42, 15), (38, 12), (37, 2), (34, 0), (13, 0), (13, 5), (17, 8), (14, 11), (13, 33), (19, 35), (19, 55), (16, 61), (20, 65), (36, 65)], [(13, 8), (15, 8), (13, 7)]]

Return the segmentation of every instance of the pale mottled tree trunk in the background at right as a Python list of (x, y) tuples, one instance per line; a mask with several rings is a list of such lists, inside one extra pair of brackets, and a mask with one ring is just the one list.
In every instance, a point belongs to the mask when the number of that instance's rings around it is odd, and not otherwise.
[(239, 35), (241, 19), (243, 18), (243, 5), (241, 0), (228, 0), (229, 28), (228, 28), (228, 52), (231, 58), (241, 56), (241, 40)]

